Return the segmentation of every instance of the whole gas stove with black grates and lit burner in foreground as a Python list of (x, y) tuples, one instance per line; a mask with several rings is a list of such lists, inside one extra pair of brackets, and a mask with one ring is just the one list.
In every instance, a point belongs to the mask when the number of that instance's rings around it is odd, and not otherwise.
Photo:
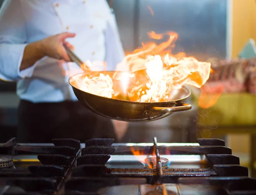
[(220, 139), (114, 143), (53, 139), (0, 146), (0, 195), (252, 195), (256, 179)]

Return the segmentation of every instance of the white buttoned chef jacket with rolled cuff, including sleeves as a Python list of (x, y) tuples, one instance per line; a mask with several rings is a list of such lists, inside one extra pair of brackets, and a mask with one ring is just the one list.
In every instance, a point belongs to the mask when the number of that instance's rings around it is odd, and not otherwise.
[[(27, 44), (62, 32), (93, 70), (106, 62), (114, 70), (124, 52), (116, 20), (106, 0), (5, 0), (0, 10), (0, 79), (17, 81), (17, 95), (30, 102), (77, 101), (70, 76), (80, 73), (73, 62), (44, 57), (20, 71)], [(96, 64), (96, 66), (94, 65)], [(70, 73), (71, 72), (71, 73)], [(70, 75), (72, 74), (72, 75)]]

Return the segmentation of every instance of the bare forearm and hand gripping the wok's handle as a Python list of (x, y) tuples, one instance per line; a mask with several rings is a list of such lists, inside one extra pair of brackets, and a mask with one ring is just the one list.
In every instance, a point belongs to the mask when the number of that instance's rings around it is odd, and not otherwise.
[(20, 65), (20, 71), (31, 67), (38, 60), (45, 56), (49, 56), (55, 59), (62, 59), (66, 62), (70, 62), (71, 59), (68, 56), (63, 44), (66, 44), (71, 49), (74, 49), (73, 45), (65, 40), (69, 37), (75, 37), (74, 33), (61, 33), (51, 37), (47, 37), (43, 40), (32, 42), (26, 45), (23, 52), (23, 59)]

